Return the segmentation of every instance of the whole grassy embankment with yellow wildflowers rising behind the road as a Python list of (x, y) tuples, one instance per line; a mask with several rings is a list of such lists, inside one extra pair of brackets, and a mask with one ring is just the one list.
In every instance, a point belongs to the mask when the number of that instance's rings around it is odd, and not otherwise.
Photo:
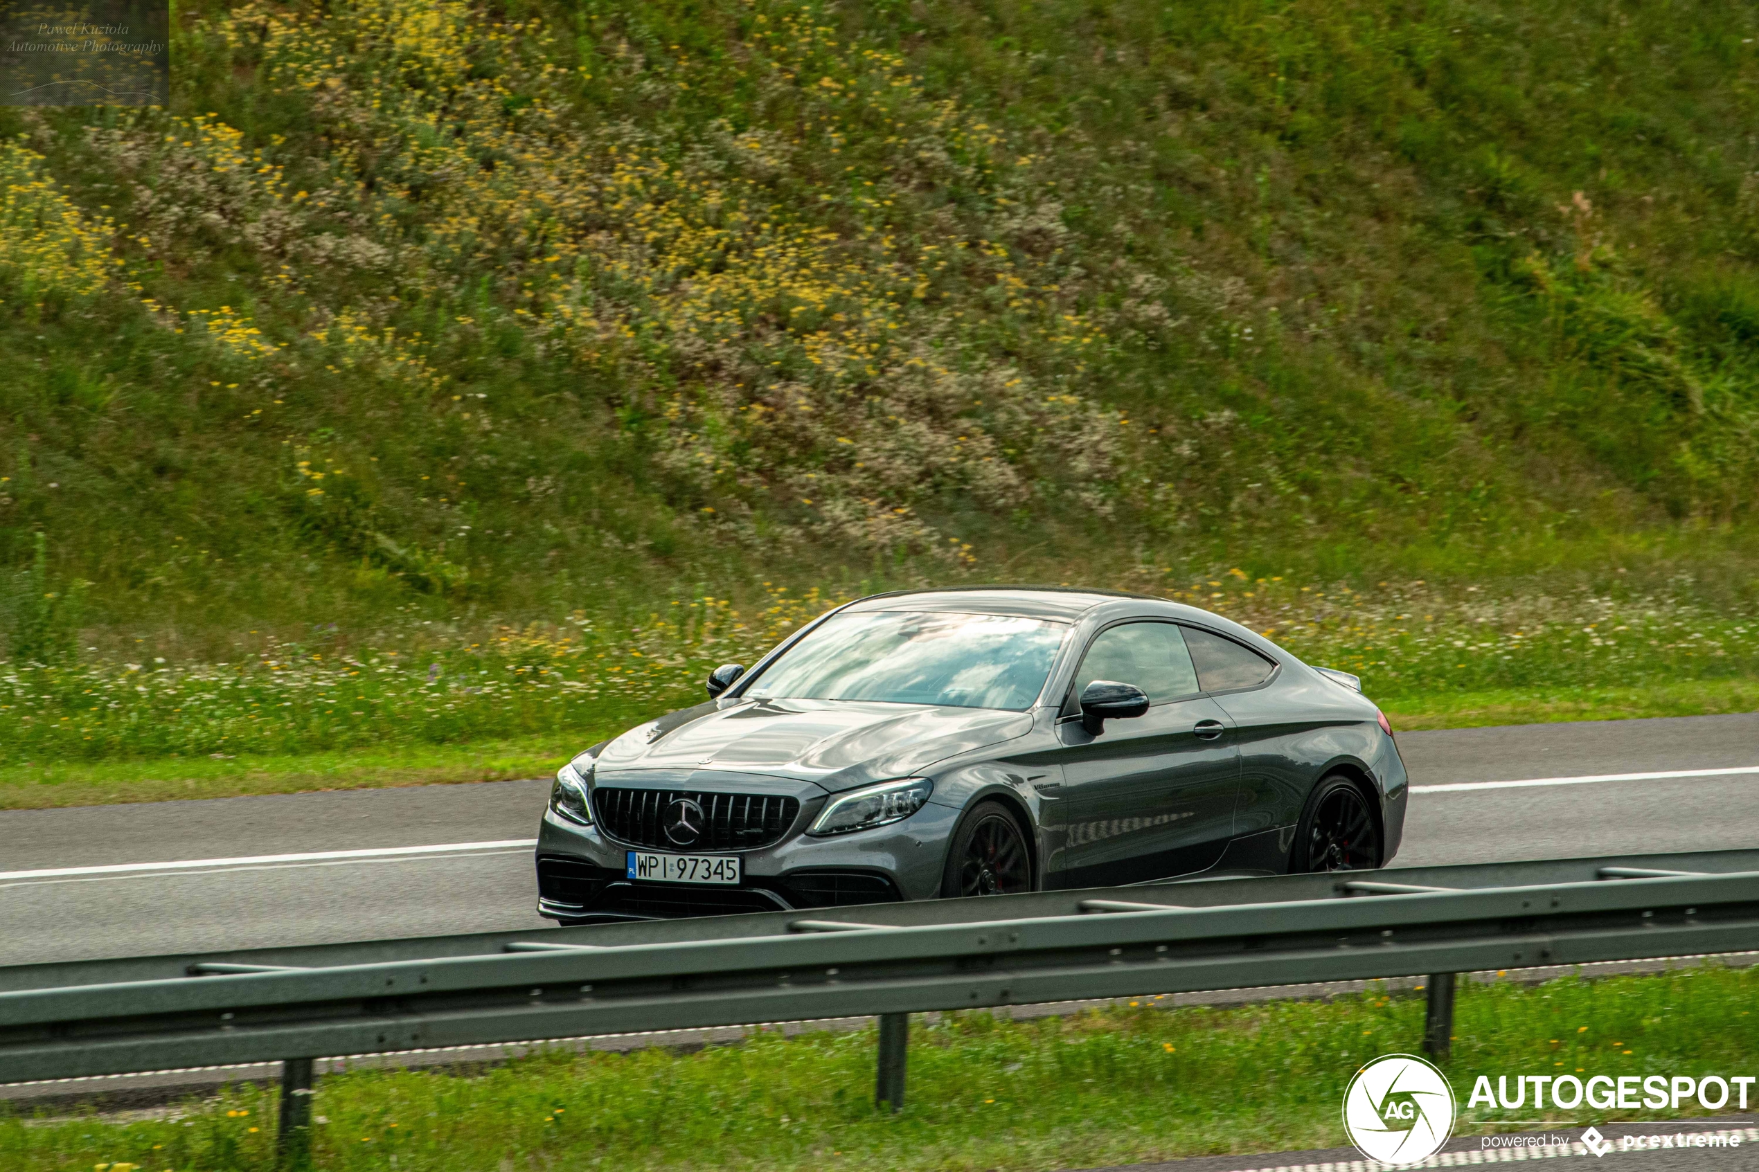
[(1405, 727), (1752, 706), (1748, 9), (176, 39), (0, 109), (4, 805), (535, 773), (781, 585), (1179, 592)]

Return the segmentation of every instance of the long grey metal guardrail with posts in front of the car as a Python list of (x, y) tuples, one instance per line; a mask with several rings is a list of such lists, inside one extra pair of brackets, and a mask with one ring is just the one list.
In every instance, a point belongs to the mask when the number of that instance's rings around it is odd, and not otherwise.
[[(982, 917), (982, 919), (976, 919)], [(1759, 850), (1212, 879), (536, 933), (0, 968), (0, 1082), (283, 1061), (283, 1153), (311, 1060), (809, 1017), (1759, 949)]]

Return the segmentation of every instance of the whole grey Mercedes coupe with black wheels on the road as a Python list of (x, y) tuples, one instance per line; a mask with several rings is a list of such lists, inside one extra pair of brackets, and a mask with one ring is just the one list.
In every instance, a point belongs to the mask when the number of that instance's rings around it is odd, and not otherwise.
[(1356, 676), (1105, 590), (876, 594), (556, 773), (558, 921), (1384, 865), (1405, 768)]

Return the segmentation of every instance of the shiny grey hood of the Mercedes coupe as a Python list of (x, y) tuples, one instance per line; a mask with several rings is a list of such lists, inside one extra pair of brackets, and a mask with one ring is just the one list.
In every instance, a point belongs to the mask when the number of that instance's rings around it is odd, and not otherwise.
[(630, 729), (600, 750), (595, 768), (602, 782), (624, 771), (700, 770), (786, 777), (837, 792), (913, 777), (1031, 727), (1031, 713), (994, 708), (846, 699), (698, 705)]

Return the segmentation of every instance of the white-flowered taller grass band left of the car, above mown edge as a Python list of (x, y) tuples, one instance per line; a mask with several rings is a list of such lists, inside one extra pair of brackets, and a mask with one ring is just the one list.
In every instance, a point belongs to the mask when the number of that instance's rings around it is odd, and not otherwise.
[[(471, 633), (412, 624), (352, 647), (334, 629), (264, 640), (241, 662), (0, 664), (0, 764), (496, 742), (635, 724), (697, 703), (721, 662), (753, 662), (818, 615), (816, 592), (774, 590), (739, 613), (675, 601), (630, 627), (584, 613)], [(584, 749), (584, 745), (580, 745)]]

